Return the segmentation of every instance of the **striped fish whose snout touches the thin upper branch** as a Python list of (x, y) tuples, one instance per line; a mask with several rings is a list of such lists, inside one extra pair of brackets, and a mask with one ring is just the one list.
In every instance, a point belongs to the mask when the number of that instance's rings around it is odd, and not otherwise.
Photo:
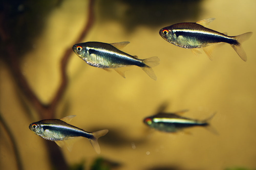
[(83, 59), (87, 64), (104, 70), (114, 69), (125, 78), (123, 67), (138, 66), (147, 73), (153, 80), (157, 77), (152, 69), (159, 64), (158, 57), (138, 59), (137, 56), (131, 56), (120, 49), (124, 48), (129, 41), (119, 43), (102, 43), (102, 42), (85, 42), (75, 44), (72, 49), (78, 57)]

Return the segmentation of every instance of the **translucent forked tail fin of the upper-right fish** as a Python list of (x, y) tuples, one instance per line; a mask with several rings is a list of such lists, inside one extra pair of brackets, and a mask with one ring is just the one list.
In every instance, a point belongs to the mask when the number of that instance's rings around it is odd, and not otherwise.
[(248, 40), (251, 37), (251, 35), (252, 35), (252, 32), (247, 32), (241, 35), (234, 36), (234, 40), (236, 41), (235, 43), (231, 44), (231, 47), (234, 48), (234, 50), (237, 52), (237, 54), (239, 55), (239, 57), (241, 57), (243, 61), (247, 60), (247, 56), (241, 44), (244, 41)]

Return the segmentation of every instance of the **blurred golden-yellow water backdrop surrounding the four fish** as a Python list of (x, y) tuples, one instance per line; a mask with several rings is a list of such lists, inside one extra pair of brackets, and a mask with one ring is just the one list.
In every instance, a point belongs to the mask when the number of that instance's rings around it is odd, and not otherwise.
[[(56, 118), (76, 114), (70, 124), (89, 132), (106, 128), (109, 133), (99, 139), (100, 155), (85, 138), (77, 141), (71, 152), (62, 148), (68, 164), (85, 160), (89, 167), (101, 156), (121, 163), (120, 169), (255, 168), (256, 1), (202, 1), (197, 17), (176, 20), (196, 22), (215, 17), (208, 28), (228, 32), (230, 36), (254, 32), (242, 44), (247, 62), (228, 44), (214, 51), (213, 61), (202, 50), (202, 54), (194, 56), (190, 50), (176, 47), (159, 36), (159, 30), (168, 26), (166, 23), (152, 28), (138, 25), (127, 31), (117, 20), (102, 22), (99, 3), (94, 4), (95, 21), (83, 42), (130, 41), (122, 49), (125, 53), (140, 59), (158, 56), (161, 61), (153, 68), (157, 81), (138, 67), (125, 72), (124, 79), (115, 71), (109, 73), (91, 67), (72, 53), (67, 65), (69, 84)], [(61, 56), (66, 48), (77, 43), (74, 41), (87, 21), (87, 4), (87, 1), (63, 1), (49, 15), (35, 48), (21, 62), (22, 73), (43, 102), (50, 101), (59, 86)], [(120, 2), (116, 13), (125, 8), (125, 3)], [(28, 110), (21, 102), (25, 99), (2, 61), (0, 82), (1, 114), (17, 141), (24, 169), (51, 168), (44, 139), (28, 128), (30, 123), (39, 121), (39, 116), (31, 107), (33, 116), (28, 118)], [(204, 127), (175, 134), (148, 129), (143, 118), (155, 114), (163, 102), (168, 103), (167, 112), (188, 109), (184, 116), (192, 119), (205, 119), (217, 112), (210, 124), (219, 135)], [(2, 126), (0, 130), (0, 169), (15, 169), (12, 145)]]

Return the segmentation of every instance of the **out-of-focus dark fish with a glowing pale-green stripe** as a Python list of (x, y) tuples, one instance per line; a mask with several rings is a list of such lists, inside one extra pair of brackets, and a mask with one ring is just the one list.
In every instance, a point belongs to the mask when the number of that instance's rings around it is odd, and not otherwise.
[(146, 117), (143, 122), (151, 128), (155, 128), (160, 131), (177, 132), (178, 130), (192, 126), (208, 126), (208, 121), (215, 115), (213, 114), (202, 121), (177, 115), (185, 111), (187, 110), (177, 113), (158, 113), (156, 115)]

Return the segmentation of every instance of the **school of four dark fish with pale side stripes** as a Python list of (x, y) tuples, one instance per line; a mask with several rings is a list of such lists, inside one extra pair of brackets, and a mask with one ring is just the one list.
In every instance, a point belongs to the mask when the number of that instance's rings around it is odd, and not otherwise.
[[(210, 60), (212, 60), (213, 50), (228, 43), (237, 52), (243, 61), (247, 60), (241, 44), (247, 40), (252, 32), (247, 32), (237, 36), (228, 36), (227, 33), (220, 33), (206, 28), (215, 18), (208, 18), (198, 22), (183, 22), (162, 28), (159, 31), (161, 37), (169, 43), (176, 46), (192, 49), (194, 54), (199, 53), (198, 48), (202, 48)], [(75, 44), (72, 49), (78, 57), (87, 64), (104, 70), (113, 69), (125, 78), (126, 67), (141, 67), (153, 80), (157, 77), (152, 69), (159, 64), (158, 57), (138, 59), (137, 56), (129, 55), (120, 49), (124, 48), (130, 42), (103, 43), (103, 42), (85, 42)], [(163, 132), (177, 132), (192, 126), (209, 126), (208, 121), (215, 115), (213, 114), (205, 120), (194, 120), (179, 115), (177, 113), (159, 112), (153, 116), (146, 117), (143, 122), (154, 129)], [(87, 132), (73, 125), (68, 124), (76, 115), (63, 117), (62, 119), (46, 119), (31, 123), (29, 129), (36, 135), (51, 141), (55, 141), (58, 146), (66, 145), (71, 150), (74, 140), (78, 137), (88, 138), (95, 151), (99, 154), (100, 147), (98, 138), (108, 133), (108, 129), (97, 132)]]

